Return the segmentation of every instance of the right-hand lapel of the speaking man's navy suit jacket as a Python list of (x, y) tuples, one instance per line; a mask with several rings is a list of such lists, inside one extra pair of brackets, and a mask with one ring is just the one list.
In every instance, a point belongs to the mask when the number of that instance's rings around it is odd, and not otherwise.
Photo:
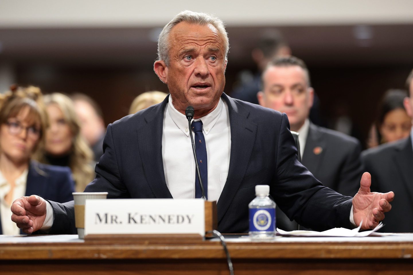
[(228, 104), (231, 127), (231, 153), (228, 178), (219, 197), (218, 222), (228, 210), (238, 188), (244, 178), (249, 158), (254, 147), (257, 126), (248, 120), (249, 112), (238, 106), (226, 94), (222, 98)]

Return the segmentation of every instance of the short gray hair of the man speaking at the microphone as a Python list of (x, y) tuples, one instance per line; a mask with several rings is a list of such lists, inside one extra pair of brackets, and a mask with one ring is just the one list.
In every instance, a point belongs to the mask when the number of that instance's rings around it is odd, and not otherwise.
[(164, 26), (164, 29), (159, 34), (158, 60), (163, 60), (166, 66), (169, 66), (169, 49), (171, 49), (171, 45), (169, 44), (169, 33), (171, 32), (172, 28), (180, 22), (188, 22), (190, 24), (197, 24), (201, 26), (211, 24), (212, 26), (214, 26), (218, 30), (218, 33), (221, 35), (221, 38), (223, 38), (224, 40), (225, 59), (227, 58), (229, 41), (223, 21), (218, 17), (214, 17), (210, 14), (185, 10), (177, 14), (171, 21), (169, 21), (169, 23)]

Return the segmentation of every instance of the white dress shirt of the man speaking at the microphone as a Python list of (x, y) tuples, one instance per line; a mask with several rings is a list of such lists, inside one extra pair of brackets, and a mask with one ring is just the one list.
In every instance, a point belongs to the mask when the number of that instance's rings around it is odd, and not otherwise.
[[(211, 113), (197, 120), (202, 121), (202, 133), (207, 147), (208, 200), (218, 201), (230, 165), (231, 132), (228, 106), (220, 99), (218, 106)], [(162, 160), (166, 185), (174, 198), (194, 198), (195, 159), (188, 119), (173, 107), (171, 96), (165, 108), (163, 127)], [(192, 136), (195, 136), (193, 132)]]

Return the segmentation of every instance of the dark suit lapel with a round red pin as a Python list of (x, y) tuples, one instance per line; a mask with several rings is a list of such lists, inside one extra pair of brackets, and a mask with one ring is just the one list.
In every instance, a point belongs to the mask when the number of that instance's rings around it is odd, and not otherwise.
[(320, 169), (325, 150), (327, 150), (327, 148), (325, 141), (321, 138), (320, 131), (316, 125), (310, 122), (302, 164), (307, 167), (312, 174), (317, 174)]

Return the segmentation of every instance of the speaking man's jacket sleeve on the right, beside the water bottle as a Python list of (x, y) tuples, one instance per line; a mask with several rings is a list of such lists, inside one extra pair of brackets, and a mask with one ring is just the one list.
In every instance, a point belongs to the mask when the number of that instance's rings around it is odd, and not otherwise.
[(351, 228), (352, 198), (324, 187), (298, 161), (287, 115), (282, 115), (271, 195), (292, 220), (314, 230)]

